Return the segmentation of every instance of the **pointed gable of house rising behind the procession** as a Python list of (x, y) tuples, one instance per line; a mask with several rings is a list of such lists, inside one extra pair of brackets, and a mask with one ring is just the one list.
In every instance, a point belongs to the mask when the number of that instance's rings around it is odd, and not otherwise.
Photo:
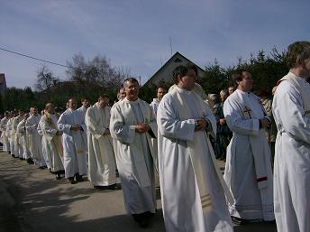
[[(151, 84), (159, 85), (160, 80), (165, 82), (173, 82), (172, 71), (178, 65), (187, 65), (188, 63), (196, 65), (191, 60), (188, 60), (185, 56), (178, 51), (158, 70), (150, 79), (144, 84), (144, 86), (150, 86)], [(205, 70), (197, 66), (198, 78), (203, 77)]]

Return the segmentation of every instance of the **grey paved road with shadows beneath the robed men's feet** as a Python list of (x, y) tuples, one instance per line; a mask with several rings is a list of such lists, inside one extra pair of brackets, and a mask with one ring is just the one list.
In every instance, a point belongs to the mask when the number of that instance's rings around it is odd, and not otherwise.
[[(95, 190), (88, 181), (75, 185), (56, 181), (47, 170), (0, 153), (0, 181), (8, 186), (16, 205), (0, 209), (5, 232), (164, 232), (159, 212), (151, 226), (141, 229), (125, 213), (122, 190)], [(2, 211), (2, 212), (1, 212)], [(237, 232), (276, 232), (274, 224), (234, 227)]]

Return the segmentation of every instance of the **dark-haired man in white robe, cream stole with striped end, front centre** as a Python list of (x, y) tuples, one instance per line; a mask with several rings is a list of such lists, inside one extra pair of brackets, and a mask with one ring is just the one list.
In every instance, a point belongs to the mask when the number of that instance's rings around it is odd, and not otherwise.
[(195, 66), (178, 66), (176, 87), (157, 113), (160, 191), (169, 232), (233, 231), (222, 173), (208, 133), (216, 135), (213, 112), (193, 90)]

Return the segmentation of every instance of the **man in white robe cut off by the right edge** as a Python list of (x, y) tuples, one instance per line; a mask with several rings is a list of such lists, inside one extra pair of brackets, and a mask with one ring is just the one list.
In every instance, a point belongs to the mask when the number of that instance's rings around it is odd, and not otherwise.
[(310, 231), (310, 42), (287, 49), (287, 76), (278, 81), (272, 110), (278, 135), (274, 200), (278, 231)]

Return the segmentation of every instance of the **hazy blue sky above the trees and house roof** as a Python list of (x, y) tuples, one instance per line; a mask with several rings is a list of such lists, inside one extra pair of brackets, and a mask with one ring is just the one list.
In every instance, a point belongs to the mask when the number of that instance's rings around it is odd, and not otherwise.
[[(127, 67), (142, 83), (172, 50), (204, 68), (310, 40), (306, 0), (0, 0), (0, 47), (66, 64), (82, 52)], [(7, 86), (33, 87), (40, 61), (0, 51)], [(64, 68), (48, 64), (60, 79)]]

